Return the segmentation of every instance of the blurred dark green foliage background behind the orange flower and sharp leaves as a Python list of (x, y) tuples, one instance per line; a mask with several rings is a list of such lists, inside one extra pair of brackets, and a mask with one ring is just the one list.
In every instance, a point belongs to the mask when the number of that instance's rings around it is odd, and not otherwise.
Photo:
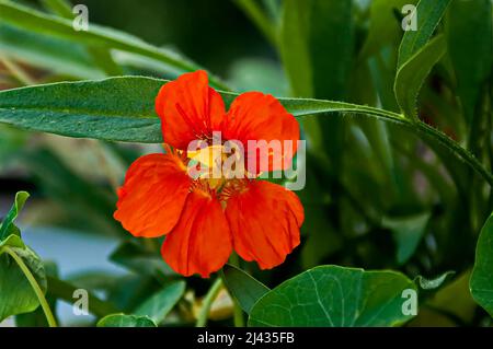
[[(51, 11), (49, 1), (15, 2)], [(245, 14), (242, 1), (78, 1), (88, 5), (90, 23), (181, 53), (234, 91), (399, 112), (392, 85), (403, 34), (401, 9), (415, 1), (308, 2), (313, 5), (308, 22), (299, 15), (302, 1), (255, 2), (273, 23), (273, 39)], [(489, 168), (491, 20), (490, 0), (452, 2), (437, 28), (448, 49), (419, 104), (422, 120), (467, 147)], [(310, 39), (300, 40), (307, 31)], [(118, 74), (100, 65), (91, 47), (3, 23), (1, 14), (0, 55), (0, 89)], [(121, 73), (177, 74), (111, 55)], [(491, 324), (468, 290), (477, 237), (492, 211), (491, 187), (446, 149), (398, 125), (344, 115), (307, 119), (301, 126), (309, 144), (307, 186), (297, 193), (307, 217), (301, 246), (274, 270), (260, 272), (253, 264), (243, 268), (270, 287), (321, 264), (395, 269), (411, 278), (452, 270), (445, 287), (425, 294), (410, 325)], [(125, 170), (139, 155), (160, 151), (159, 146), (68, 139), (2, 125), (0, 133), (0, 216), (15, 191), (30, 190), (34, 199), (23, 213), (25, 239), (43, 258), (56, 261), (64, 279), (129, 310), (163, 278), (177, 278), (160, 260), (158, 241), (133, 240), (112, 219), (114, 189)], [(73, 257), (67, 249), (82, 254)], [(209, 280), (188, 279), (187, 296), (171, 322), (190, 324), (208, 287)], [(225, 302), (214, 324), (230, 324), (231, 304)], [(67, 315), (70, 321), (80, 319)]]

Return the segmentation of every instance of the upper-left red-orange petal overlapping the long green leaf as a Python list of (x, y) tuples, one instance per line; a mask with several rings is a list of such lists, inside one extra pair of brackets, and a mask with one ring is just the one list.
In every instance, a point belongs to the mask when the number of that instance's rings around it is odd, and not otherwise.
[(220, 94), (208, 86), (207, 73), (197, 70), (161, 88), (156, 97), (156, 113), (161, 118), (164, 142), (186, 150), (191, 141), (219, 130), (226, 112)]

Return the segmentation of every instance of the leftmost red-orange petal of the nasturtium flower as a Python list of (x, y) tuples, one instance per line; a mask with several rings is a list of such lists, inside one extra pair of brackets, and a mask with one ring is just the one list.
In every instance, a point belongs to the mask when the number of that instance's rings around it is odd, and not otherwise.
[(141, 156), (131, 164), (118, 189), (114, 218), (135, 236), (168, 234), (180, 218), (191, 184), (177, 155)]

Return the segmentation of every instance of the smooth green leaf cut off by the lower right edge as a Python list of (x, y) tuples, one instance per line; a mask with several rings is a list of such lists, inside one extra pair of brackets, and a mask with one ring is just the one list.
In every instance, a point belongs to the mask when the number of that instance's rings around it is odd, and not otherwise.
[(478, 240), (469, 288), (475, 302), (493, 316), (493, 214)]

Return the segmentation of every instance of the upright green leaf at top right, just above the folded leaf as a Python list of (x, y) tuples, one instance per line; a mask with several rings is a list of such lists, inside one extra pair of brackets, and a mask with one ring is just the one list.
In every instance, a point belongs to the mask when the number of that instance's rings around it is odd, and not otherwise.
[(399, 47), (398, 70), (429, 40), (451, 0), (421, 0), (417, 3), (417, 30), (406, 31)]

